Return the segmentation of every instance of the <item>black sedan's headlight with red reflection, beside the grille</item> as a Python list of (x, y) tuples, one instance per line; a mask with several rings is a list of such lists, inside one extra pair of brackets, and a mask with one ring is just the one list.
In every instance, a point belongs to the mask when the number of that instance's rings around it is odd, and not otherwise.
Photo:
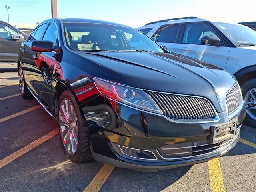
[(94, 78), (100, 94), (129, 106), (162, 114), (154, 100), (142, 89), (131, 88), (107, 80)]

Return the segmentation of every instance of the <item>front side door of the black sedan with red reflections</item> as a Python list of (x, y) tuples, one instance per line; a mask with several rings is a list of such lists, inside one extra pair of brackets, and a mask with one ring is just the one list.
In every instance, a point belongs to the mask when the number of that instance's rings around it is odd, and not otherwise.
[[(42, 36), (42, 40), (52, 41), (56, 48), (58, 47), (58, 30), (57, 25), (50, 22)], [(59, 63), (56, 61), (56, 52), (38, 52), (36, 54), (36, 65), (34, 68), (34, 89), (38, 99), (46, 104), (45, 107), (52, 111), (53, 96), (52, 96), (52, 71), (54, 65)]]

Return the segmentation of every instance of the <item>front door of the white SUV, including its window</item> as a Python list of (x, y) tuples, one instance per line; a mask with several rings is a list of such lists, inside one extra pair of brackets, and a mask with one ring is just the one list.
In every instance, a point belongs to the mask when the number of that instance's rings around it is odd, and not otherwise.
[[(184, 24), (182, 36), (176, 45), (175, 52), (202, 61), (212, 63), (225, 68), (228, 59), (230, 46), (204, 22), (193, 22)], [(212, 35), (220, 38), (223, 46), (201, 44), (201, 38), (205, 35)]]

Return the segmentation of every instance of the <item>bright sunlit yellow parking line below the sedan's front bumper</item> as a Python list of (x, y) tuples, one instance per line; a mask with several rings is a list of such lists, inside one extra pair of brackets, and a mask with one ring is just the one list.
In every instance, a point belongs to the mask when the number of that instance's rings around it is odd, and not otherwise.
[(208, 161), (210, 186), (212, 192), (225, 192), (219, 158)]

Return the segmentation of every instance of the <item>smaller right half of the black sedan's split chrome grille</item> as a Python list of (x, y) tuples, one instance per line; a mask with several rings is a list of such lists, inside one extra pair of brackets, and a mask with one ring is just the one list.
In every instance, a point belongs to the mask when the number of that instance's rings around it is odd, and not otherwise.
[(226, 94), (226, 106), (228, 116), (232, 114), (240, 105), (242, 95), (238, 83)]

